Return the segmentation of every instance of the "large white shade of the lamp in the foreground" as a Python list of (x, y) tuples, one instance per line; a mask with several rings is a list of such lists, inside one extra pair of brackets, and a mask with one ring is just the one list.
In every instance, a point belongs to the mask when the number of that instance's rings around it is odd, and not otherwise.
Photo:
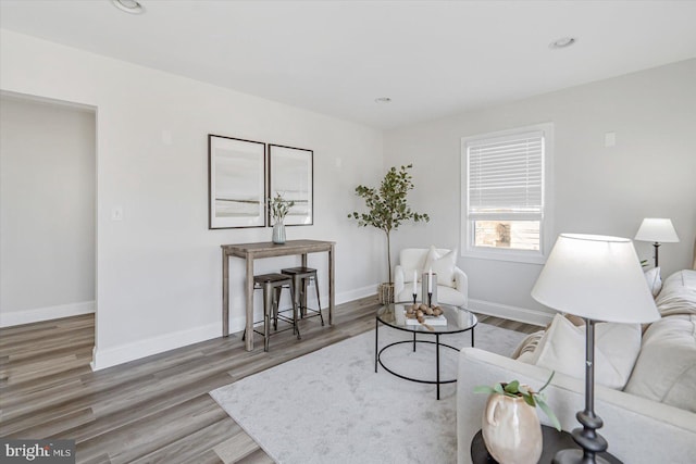
[(561, 234), (532, 297), (594, 321), (647, 323), (660, 317), (627, 238)]

